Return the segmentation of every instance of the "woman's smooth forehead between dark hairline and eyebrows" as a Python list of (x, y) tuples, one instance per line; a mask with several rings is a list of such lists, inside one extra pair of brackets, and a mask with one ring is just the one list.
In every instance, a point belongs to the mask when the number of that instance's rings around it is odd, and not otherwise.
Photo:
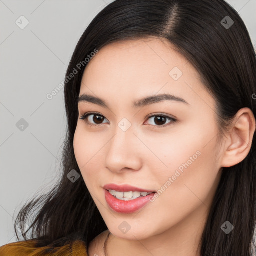
[(190, 62), (167, 40), (154, 37), (112, 42), (102, 47), (85, 68), (82, 93), (106, 100), (118, 97), (120, 103), (124, 98), (133, 101), (160, 93), (196, 102), (201, 95), (214, 104)]

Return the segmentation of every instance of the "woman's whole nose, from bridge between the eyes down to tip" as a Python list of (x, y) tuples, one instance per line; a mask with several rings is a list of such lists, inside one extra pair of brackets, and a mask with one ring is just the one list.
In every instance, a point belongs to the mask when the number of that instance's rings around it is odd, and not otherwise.
[(111, 171), (120, 171), (123, 168), (138, 169), (140, 168), (138, 147), (135, 146), (139, 141), (133, 134), (134, 129), (131, 123), (123, 118), (117, 123), (114, 129), (114, 136), (109, 141), (106, 167)]

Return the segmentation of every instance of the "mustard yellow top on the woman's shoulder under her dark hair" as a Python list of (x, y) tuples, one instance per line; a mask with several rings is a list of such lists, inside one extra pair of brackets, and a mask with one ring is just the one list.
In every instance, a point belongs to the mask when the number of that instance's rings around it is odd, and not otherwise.
[(35, 244), (35, 240), (7, 243), (0, 247), (0, 256), (88, 256), (85, 242), (81, 240), (55, 248), (35, 247)]

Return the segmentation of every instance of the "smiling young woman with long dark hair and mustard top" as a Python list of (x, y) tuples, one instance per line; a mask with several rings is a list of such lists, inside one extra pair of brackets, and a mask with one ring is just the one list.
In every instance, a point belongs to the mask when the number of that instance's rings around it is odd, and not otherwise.
[(64, 93), (63, 176), (0, 255), (253, 255), (256, 58), (231, 6), (114, 1)]

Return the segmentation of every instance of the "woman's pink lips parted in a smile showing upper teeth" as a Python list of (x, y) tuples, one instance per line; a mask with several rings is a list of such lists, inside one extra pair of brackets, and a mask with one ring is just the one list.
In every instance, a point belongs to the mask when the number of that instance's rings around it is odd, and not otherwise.
[(145, 206), (155, 191), (130, 185), (107, 184), (104, 186), (105, 199), (109, 207), (120, 213), (132, 213)]

